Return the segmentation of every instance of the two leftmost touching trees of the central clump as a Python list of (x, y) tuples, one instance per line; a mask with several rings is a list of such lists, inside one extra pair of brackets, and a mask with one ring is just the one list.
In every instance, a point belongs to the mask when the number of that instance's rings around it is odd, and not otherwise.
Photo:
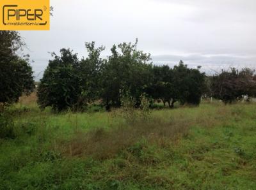
[(61, 55), (52, 53), (44, 77), (38, 87), (38, 104), (44, 109), (52, 106), (55, 111), (84, 110), (84, 106), (100, 98), (100, 77), (104, 60), (100, 58), (103, 47), (86, 43), (88, 57), (79, 61), (72, 50), (61, 49)]

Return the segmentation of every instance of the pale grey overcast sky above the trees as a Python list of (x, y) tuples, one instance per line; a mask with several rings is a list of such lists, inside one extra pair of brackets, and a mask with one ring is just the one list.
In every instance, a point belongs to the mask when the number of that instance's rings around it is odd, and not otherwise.
[(255, 0), (51, 0), (50, 31), (22, 31), (36, 79), (49, 52), (72, 48), (86, 57), (85, 41), (135, 41), (155, 64), (202, 66), (206, 72), (256, 66)]

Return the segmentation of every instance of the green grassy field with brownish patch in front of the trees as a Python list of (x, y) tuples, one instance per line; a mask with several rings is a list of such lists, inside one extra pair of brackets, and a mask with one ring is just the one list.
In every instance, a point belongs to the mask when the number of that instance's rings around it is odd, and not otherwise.
[(256, 189), (256, 104), (173, 110), (10, 111), (1, 189)]

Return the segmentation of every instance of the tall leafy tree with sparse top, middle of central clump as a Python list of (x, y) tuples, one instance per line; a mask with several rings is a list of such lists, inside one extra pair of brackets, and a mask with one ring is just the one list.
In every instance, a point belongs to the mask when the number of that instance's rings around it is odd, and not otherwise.
[(102, 75), (102, 99), (106, 107), (120, 106), (122, 96), (130, 96), (140, 105), (140, 96), (150, 80), (150, 54), (137, 50), (136, 43), (121, 43), (111, 48), (112, 55), (104, 65)]

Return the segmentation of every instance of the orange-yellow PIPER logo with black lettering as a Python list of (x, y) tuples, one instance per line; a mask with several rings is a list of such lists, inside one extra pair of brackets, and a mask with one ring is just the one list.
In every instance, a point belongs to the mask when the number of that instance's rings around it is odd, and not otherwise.
[(0, 30), (49, 30), (49, 0), (0, 0)]

